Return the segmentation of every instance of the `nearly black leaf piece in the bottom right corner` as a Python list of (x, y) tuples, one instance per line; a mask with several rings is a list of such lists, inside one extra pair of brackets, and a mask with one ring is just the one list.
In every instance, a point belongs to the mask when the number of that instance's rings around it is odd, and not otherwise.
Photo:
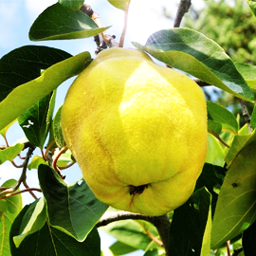
[(247, 256), (256, 256), (256, 222), (243, 233), (243, 249)]

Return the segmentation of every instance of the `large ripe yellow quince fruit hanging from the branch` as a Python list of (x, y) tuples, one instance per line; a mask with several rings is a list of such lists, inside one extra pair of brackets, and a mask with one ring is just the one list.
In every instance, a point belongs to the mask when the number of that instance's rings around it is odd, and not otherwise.
[(207, 154), (201, 88), (135, 49), (103, 50), (82, 71), (62, 127), (91, 190), (119, 210), (162, 215), (179, 207)]

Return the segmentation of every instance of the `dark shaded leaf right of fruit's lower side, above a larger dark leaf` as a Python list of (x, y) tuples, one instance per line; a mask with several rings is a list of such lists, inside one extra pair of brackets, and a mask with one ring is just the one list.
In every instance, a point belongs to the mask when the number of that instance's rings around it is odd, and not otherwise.
[(204, 187), (211, 193), (211, 211), (212, 215), (217, 204), (218, 192), (221, 189), (227, 170), (224, 167), (214, 166), (206, 163), (202, 174), (198, 177), (194, 191), (198, 191)]

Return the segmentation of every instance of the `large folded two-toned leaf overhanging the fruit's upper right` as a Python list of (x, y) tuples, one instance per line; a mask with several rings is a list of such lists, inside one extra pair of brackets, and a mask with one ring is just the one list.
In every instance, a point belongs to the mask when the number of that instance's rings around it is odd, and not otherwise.
[(223, 48), (203, 34), (189, 28), (160, 30), (145, 46), (133, 43), (155, 59), (183, 70), (246, 101), (254, 97)]

